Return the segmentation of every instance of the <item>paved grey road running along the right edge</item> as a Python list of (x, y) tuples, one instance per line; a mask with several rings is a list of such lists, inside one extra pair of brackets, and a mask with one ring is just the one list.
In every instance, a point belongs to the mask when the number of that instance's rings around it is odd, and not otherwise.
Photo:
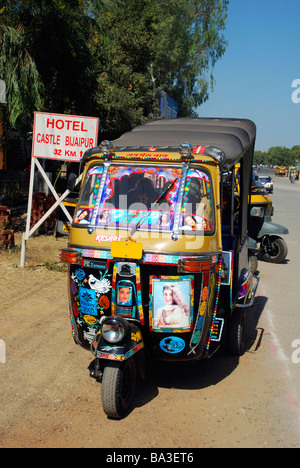
[[(273, 221), (289, 229), (284, 236), (288, 255), (281, 264), (259, 262), (260, 295), (267, 298), (264, 319), (267, 321), (274, 350), (274, 360), (281, 366), (286, 387), (290, 418), (295, 431), (300, 427), (300, 182), (291, 184), (287, 177), (271, 175), (275, 208)], [(288, 416), (287, 416), (288, 417)]]

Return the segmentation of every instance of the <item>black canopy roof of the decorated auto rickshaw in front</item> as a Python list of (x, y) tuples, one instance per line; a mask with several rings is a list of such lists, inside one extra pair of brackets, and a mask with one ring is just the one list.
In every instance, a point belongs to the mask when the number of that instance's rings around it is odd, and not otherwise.
[(116, 151), (150, 146), (171, 150), (186, 142), (215, 147), (224, 153), (224, 163), (230, 168), (249, 148), (253, 151), (255, 136), (256, 126), (247, 119), (180, 118), (148, 121), (112, 143)]

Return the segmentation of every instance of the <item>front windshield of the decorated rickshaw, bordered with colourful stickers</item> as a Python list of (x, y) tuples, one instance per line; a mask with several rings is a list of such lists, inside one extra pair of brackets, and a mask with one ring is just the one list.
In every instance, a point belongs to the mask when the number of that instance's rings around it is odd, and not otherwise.
[[(171, 231), (180, 204), (179, 229), (214, 230), (209, 173), (183, 169), (95, 164), (87, 172), (74, 222), (103, 228)], [(181, 188), (181, 190), (180, 190)], [(183, 191), (182, 191), (183, 188)]]

